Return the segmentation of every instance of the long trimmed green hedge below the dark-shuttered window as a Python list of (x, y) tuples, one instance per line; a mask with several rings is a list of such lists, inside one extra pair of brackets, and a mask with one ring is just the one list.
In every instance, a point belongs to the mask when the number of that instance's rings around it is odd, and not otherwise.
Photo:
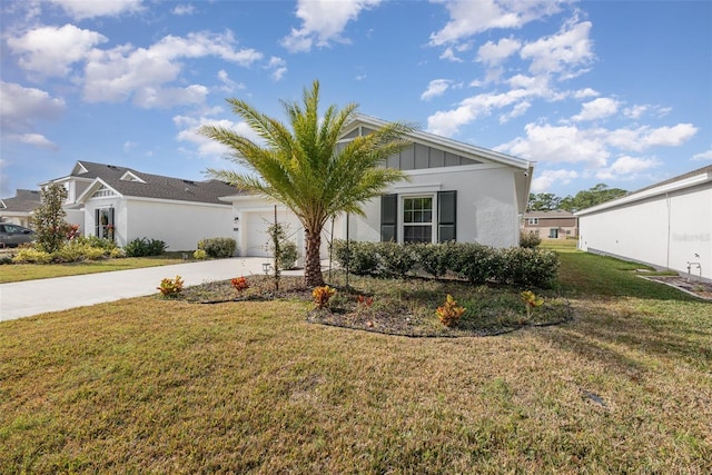
[(476, 243), (396, 244), (336, 240), (336, 261), (356, 275), (406, 277), (418, 270), (434, 278), (446, 274), (473, 285), (497, 281), (525, 287), (551, 287), (558, 256), (538, 248), (494, 248)]

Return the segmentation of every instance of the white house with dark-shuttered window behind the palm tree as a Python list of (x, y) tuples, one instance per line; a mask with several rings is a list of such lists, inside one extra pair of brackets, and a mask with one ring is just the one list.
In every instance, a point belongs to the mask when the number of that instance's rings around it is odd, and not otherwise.
[[(386, 122), (358, 115), (345, 129), (342, 146)], [(517, 246), (520, 216), (530, 194), (533, 164), (423, 131), (406, 137), (413, 145), (388, 158), (387, 167), (405, 170), (411, 178), (393, 185), (364, 206), (365, 217), (345, 216), (325, 226), (323, 249), (335, 238), (442, 243), (458, 240), (494, 247)], [(281, 206), (249, 195), (222, 198), (231, 202), (240, 255), (266, 256), (266, 229), (275, 220), (289, 226), (304, 248), (304, 229)]]

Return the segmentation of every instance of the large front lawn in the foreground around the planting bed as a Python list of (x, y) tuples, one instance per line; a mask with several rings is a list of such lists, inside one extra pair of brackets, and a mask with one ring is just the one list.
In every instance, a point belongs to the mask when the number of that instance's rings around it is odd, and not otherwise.
[(562, 249), (573, 321), (407, 338), (300, 299), (0, 324), (0, 473), (712, 472), (712, 305)]

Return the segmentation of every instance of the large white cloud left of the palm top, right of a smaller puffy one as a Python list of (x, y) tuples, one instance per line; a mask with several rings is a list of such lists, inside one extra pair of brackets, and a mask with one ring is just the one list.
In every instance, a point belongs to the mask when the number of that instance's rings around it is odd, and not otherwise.
[[(92, 50), (88, 55), (83, 97), (90, 102), (118, 102), (134, 98), (141, 107), (170, 107), (198, 103), (207, 90), (192, 85), (167, 88), (178, 79), (185, 58), (217, 56), (249, 67), (261, 59), (253, 49), (235, 49), (230, 32), (189, 33), (185, 38), (168, 36), (148, 49), (120, 46), (111, 50)], [(166, 89), (166, 90), (162, 90)], [(175, 101), (170, 103), (170, 101)]]

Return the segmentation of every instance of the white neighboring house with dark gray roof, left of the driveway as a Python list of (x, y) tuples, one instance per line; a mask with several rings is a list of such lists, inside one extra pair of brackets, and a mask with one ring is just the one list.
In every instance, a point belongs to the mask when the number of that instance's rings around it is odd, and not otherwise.
[(196, 249), (200, 239), (235, 237), (233, 208), (219, 197), (235, 187), (144, 174), (113, 165), (77, 161), (71, 172), (40, 184), (62, 184), (67, 220), (85, 236), (160, 239), (170, 250)]

